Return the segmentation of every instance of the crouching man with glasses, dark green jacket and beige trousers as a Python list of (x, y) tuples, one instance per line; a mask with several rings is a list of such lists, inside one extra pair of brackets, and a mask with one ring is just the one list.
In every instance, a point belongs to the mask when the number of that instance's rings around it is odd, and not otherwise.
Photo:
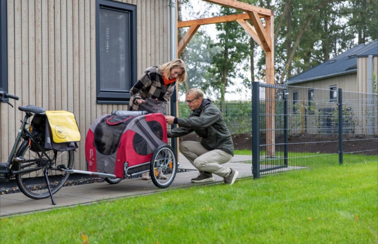
[(200, 174), (192, 182), (213, 182), (212, 174), (223, 177), (226, 184), (234, 184), (239, 172), (223, 166), (234, 156), (231, 133), (223, 120), (221, 111), (203, 92), (191, 88), (186, 92), (186, 104), (192, 111), (187, 119), (165, 116), (167, 123), (179, 127), (168, 131), (168, 137), (184, 136), (194, 131), (201, 137), (200, 142), (183, 141), (180, 152), (196, 167)]

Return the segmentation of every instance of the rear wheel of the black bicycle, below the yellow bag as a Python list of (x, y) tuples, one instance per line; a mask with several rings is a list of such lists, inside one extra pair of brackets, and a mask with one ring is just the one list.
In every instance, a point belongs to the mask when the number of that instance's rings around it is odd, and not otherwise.
[[(52, 164), (48, 163), (48, 158), (45, 155), (38, 156), (38, 153), (30, 150), (26, 140), (22, 142), (16, 153), (16, 157), (28, 160), (27, 162), (17, 162), (16, 170), (35, 168), (34, 171), (15, 176), (19, 190), (29, 198), (43, 199), (50, 196), (44, 177), (44, 169), (47, 170), (52, 194), (56, 193), (69, 177), (68, 172), (57, 170), (56, 167), (62, 165), (72, 169), (73, 150), (63, 152), (49, 150), (46, 151), (46, 154), (52, 160)], [(37, 169), (41, 166), (43, 166), (41, 169)]]

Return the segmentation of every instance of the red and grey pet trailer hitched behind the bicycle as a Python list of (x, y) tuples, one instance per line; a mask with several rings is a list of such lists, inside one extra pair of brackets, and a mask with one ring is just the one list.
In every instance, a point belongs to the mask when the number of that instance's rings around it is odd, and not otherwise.
[(155, 186), (166, 188), (177, 172), (176, 156), (167, 142), (163, 114), (113, 111), (97, 118), (87, 132), (87, 167), (110, 184), (149, 172)]

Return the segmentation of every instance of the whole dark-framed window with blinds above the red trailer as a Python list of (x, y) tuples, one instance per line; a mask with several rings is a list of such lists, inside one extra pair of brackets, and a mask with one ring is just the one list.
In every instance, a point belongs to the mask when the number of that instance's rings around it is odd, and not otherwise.
[(97, 0), (97, 103), (127, 104), (136, 79), (136, 6)]

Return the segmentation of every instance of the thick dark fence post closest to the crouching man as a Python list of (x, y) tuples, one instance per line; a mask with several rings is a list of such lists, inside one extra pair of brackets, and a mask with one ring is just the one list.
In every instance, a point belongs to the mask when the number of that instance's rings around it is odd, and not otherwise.
[(260, 86), (252, 83), (252, 175), (260, 178)]

